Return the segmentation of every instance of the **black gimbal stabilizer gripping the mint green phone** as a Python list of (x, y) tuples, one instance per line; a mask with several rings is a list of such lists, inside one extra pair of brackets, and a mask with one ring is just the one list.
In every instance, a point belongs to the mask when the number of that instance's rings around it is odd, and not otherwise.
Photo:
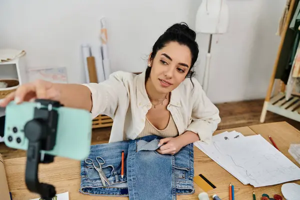
[(53, 162), (54, 156), (40, 152), (52, 150), (55, 145), (58, 113), (52, 107), (62, 106), (57, 101), (37, 99), (34, 117), (24, 126), (25, 137), (28, 139), (25, 182), (27, 188), (38, 193), (42, 199), (51, 200), (56, 194), (53, 185), (38, 181), (38, 164)]

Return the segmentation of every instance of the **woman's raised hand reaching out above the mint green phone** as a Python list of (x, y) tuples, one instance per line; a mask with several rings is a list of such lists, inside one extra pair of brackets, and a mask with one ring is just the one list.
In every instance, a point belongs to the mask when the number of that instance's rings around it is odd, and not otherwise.
[(60, 91), (53, 85), (52, 82), (45, 80), (36, 80), (22, 84), (14, 92), (9, 93), (0, 101), (0, 107), (5, 107), (12, 100), (15, 100), (16, 103), (33, 100), (35, 98), (59, 101)]

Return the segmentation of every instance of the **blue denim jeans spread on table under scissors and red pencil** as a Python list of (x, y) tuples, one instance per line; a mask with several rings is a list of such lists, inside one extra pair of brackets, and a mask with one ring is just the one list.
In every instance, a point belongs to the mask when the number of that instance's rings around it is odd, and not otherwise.
[[(98, 172), (81, 160), (80, 189), (89, 195), (129, 196), (130, 200), (176, 199), (176, 194), (191, 194), (193, 187), (193, 144), (175, 155), (156, 151), (160, 137), (148, 135), (134, 140), (91, 145), (88, 158), (97, 156), (110, 185), (103, 186)], [(121, 152), (124, 150), (124, 176), (121, 178)]]

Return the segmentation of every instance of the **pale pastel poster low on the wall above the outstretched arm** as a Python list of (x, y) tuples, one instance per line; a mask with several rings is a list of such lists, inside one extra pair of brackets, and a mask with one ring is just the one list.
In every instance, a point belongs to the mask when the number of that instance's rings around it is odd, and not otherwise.
[(67, 83), (66, 67), (49, 67), (28, 70), (29, 81), (43, 79), (55, 83)]

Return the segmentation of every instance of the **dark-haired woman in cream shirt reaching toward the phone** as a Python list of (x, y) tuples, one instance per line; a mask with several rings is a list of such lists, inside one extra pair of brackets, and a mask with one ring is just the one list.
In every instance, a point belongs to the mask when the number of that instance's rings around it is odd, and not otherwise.
[(86, 109), (92, 117), (105, 114), (113, 118), (109, 142), (156, 134), (163, 137), (157, 149), (161, 154), (175, 154), (197, 140), (209, 142), (220, 118), (192, 77), (199, 51), (195, 37), (185, 23), (176, 23), (154, 43), (141, 74), (116, 71), (103, 82), (88, 84), (37, 80), (20, 85), (0, 106), (13, 99), (47, 98)]

